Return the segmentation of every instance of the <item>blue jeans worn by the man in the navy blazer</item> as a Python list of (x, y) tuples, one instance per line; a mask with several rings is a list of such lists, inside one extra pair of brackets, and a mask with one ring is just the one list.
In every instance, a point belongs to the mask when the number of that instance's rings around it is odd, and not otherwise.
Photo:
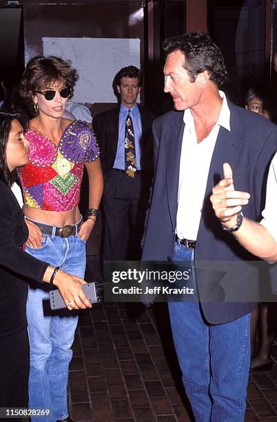
[[(191, 261), (194, 250), (175, 244), (172, 261)], [(183, 384), (196, 422), (243, 422), (250, 364), (247, 314), (209, 325), (201, 305), (169, 302), (170, 322)]]

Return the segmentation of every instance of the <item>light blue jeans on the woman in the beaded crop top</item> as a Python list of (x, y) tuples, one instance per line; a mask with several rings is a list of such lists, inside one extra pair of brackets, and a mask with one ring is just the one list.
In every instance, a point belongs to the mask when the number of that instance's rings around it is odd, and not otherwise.
[[(41, 248), (27, 246), (26, 252), (65, 272), (84, 277), (85, 242), (78, 235), (61, 238), (43, 234)], [(49, 299), (49, 288), (44, 286), (35, 283), (28, 294), (29, 406), (52, 412), (48, 417), (32, 417), (32, 421), (54, 422), (68, 416), (68, 366), (78, 316), (68, 310), (46, 312), (43, 302)]]

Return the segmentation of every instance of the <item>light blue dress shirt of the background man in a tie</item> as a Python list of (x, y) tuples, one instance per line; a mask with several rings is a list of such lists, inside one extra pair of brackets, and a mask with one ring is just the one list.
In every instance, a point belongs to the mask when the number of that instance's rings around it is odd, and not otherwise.
[[(125, 170), (125, 123), (129, 108), (121, 104), (119, 112), (119, 141), (117, 142), (116, 157), (114, 160), (114, 168)], [(136, 148), (136, 169), (141, 170), (141, 114), (136, 104), (131, 110), (131, 119), (134, 126), (134, 145)]]

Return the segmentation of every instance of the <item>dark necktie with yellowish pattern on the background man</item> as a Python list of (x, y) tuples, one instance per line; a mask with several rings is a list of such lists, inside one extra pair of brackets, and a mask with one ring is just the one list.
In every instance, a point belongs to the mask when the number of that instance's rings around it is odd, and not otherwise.
[(125, 123), (125, 177), (134, 181), (136, 172), (136, 150), (134, 145), (134, 126), (131, 119), (131, 110), (128, 110)]

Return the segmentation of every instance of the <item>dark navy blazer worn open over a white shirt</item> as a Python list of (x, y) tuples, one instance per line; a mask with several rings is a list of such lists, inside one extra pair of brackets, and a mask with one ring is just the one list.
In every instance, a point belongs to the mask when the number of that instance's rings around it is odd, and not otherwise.
[[(249, 263), (254, 257), (238, 245), (232, 234), (221, 229), (209, 202), (212, 188), (223, 178), (223, 163), (229, 162), (235, 188), (251, 194), (249, 204), (243, 208), (245, 216), (259, 220), (265, 204), (269, 163), (277, 149), (274, 123), (229, 101), (228, 106), (231, 131), (220, 127), (218, 132), (195, 250), (203, 314), (213, 324), (232, 321), (253, 310), (258, 299), (258, 271)], [(159, 142), (159, 147), (143, 245), (144, 261), (165, 261), (172, 257), (184, 127), (183, 112), (177, 111), (153, 123), (155, 144)], [(215, 268), (219, 272), (214, 272)]]

